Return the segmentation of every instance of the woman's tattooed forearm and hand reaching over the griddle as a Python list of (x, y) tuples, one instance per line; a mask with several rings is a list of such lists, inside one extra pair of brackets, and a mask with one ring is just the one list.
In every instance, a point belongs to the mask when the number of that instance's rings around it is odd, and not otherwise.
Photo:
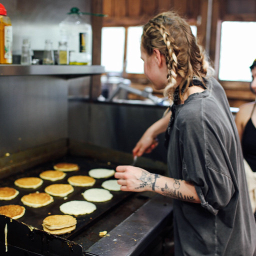
[(199, 203), (193, 184), (182, 180), (150, 173), (134, 166), (117, 166), (115, 178), (123, 191), (155, 191), (182, 201)]

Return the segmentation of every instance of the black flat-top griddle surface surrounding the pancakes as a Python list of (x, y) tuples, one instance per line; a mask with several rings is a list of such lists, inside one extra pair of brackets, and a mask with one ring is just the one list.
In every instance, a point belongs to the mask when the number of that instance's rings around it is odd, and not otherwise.
[[(79, 165), (78, 171), (69, 171), (66, 172), (66, 176), (57, 181), (49, 181), (49, 180), (43, 180), (43, 183), (40, 187), (36, 189), (30, 189), (30, 188), (20, 188), (14, 185), (14, 180), (20, 177), (29, 177), (29, 176), (36, 176), (39, 177), (39, 173), (44, 170), (53, 169), (53, 165), (58, 162), (71, 162), (71, 163), (77, 163)], [(93, 186), (89, 187), (78, 187), (73, 186), (74, 191), (67, 195), (66, 197), (58, 197), (53, 196), (54, 201), (46, 206), (39, 207), (39, 208), (33, 208), (26, 205), (23, 205), (23, 203), (20, 201), (20, 198), (28, 193), (31, 192), (44, 192), (44, 188), (47, 185), (53, 184), (53, 183), (68, 183), (67, 178), (72, 175), (88, 175), (88, 171), (92, 168), (109, 168), (109, 169), (115, 169), (116, 165), (112, 164), (110, 162), (98, 162), (96, 159), (90, 159), (85, 157), (79, 157), (79, 156), (64, 156), (62, 158), (56, 159), (51, 162), (47, 162), (44, 164), (40, 164), (38, 166), (35, 166), (30, 169), (22, 170), (16, 174), (10, 175), (5, 179), (0, 180), (0, 186), (10, 186), (19, 191), (19, 194), (13, 198), (12, 200), (0, 200), (0, 205), (6, 205), (6, 204), (19, 204), (25, 207), (25, 214), (17, 219), (18, 221), (21, 221), (27, 225), (31, 225), (33, 227), (36, 227), (38, 229), (42, 230), (42, 220), (51, 214), (63, 214), (59, 210), (59, 206), (67, 201), (71, 200), (85, 200), (83, 196), (81, 195), (82, 192), (84, 192), (86, 189), (89, 188), (102, 188), (101, 184), (103, 181), (107, 179), (113, 179), (114, 177), (109, 178), (100, 178), (96, 179), (96, 182)], [(61, 237), (65, 239), (72, 239), (72, 237), (76, 236), (79, 232), (84, 230), (86, 227), (88, 227), (90, 224), (92, 224), (94, 221), (96, 221), (100, 216), (106, 214), (110, 209), (112, 209), (114, 206), (118, 205), (120, 202), (125, 200), (125, 198), (132, 195), (131, 192), (124, 192), (124, 191), (110, 191), (113, 194), (113, 197), (111, 200), (106, 202), (93, 202), (96, 205), (96, 210), (90, 214), (85, 215), (78, 215), (75, 216), (77, 219), (77, 224), (75, 230), (68, 234), (60, 235)], [(66, 198), (66, 199), (64, 199)]]

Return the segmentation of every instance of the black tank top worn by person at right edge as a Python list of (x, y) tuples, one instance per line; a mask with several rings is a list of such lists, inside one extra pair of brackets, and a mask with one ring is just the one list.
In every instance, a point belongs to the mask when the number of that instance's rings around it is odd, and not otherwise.
[(242, 135), (242, 152), (243, 157), (249, 164), (252, 171), (256, 171), (256, 127), (251, 121), (251, 115), (254, 111), (256, 102), (253, 105), (250, 118), (245, 125)]

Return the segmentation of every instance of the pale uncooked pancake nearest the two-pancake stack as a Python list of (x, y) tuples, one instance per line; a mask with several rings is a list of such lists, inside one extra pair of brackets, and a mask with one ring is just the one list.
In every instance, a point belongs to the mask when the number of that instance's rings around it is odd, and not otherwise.
[(74, 200), (61, 204), (59, 209), (64, 214), (83, 215), (93, 212), (96, 209), (96, 205), (91, 202)]

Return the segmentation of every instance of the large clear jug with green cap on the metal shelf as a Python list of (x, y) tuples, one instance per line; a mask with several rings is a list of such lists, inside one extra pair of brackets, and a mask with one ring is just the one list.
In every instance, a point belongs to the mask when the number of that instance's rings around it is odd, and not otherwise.
[(69, 64), (91, 64), (92, 31), (77, 7), (72, 7), (67, 17), (59, 23), (60, 40), (67, 41)]

